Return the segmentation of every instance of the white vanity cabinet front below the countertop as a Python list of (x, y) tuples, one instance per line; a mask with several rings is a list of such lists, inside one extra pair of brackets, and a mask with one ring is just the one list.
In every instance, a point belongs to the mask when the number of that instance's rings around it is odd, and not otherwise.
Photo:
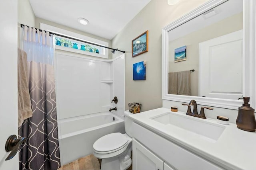
[(133, 170), (224, 170), (137, 123), (132, 129)]

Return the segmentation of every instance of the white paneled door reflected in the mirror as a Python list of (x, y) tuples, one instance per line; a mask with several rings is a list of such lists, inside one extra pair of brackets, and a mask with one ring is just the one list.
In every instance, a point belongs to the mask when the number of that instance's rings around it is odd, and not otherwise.
[(200, 43), (199, 69), (199, 96), (240, 98), (243, 95), (243, 31)]

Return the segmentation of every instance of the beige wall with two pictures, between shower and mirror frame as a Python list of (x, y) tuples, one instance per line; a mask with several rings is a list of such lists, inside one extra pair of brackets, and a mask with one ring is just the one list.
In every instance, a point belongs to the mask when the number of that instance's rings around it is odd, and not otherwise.
[[(141, 103), (141, 111), (162, 107), (162, 28), (205, 2), (180, 1), (169, 6), (167, 0), (152, 0), (112, 39), (112, 47), (126, 51), (126, 110), (129, 102)], [(132, 39), (146, 30), (148, 52), (132, 58)], [(132, 64), (144, 60), (146, 80), (134, 81)]]

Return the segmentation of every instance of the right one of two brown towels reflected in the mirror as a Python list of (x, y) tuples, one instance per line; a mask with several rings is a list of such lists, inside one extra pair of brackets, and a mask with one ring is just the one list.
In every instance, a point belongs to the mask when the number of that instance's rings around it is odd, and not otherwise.
[(191, 96), (190, 70), (177, 72), (178, 74), (178, 94)]

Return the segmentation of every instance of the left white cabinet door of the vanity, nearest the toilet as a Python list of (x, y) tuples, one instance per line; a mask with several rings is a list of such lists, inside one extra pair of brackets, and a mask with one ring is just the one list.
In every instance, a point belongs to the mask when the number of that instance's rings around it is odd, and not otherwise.
[(164, 161), (150, 152), (136, 140), (132, 140), (133, 170), (163, 170)]

